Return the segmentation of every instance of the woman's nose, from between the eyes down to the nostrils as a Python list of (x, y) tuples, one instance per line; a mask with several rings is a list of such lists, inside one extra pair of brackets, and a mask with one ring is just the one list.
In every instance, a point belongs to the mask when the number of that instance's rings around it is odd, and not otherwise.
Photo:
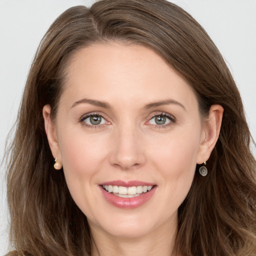
[(111, 142), (110, 164), (123, 170), (137, 168), (145, 163), (141, 131), (135, 125), (123, 125), (116, 130)]

